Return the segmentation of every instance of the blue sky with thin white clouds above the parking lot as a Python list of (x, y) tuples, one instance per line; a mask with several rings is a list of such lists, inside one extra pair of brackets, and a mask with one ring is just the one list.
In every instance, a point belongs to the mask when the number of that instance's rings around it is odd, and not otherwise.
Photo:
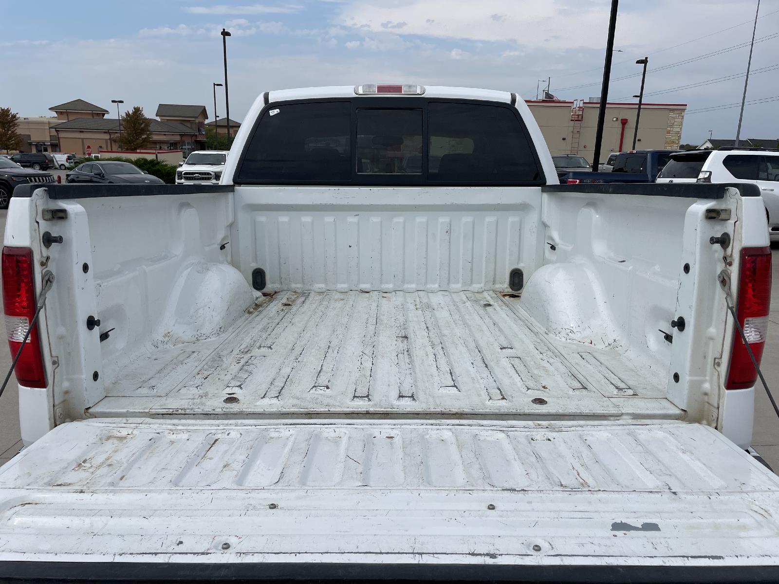
[[(143, 106), (204, 104), (223, 81), (228, 42), (231, 118), (264, 90), (404, 82), (512, 90), (534, 97), (552, 77), (562, 99), (594, 97), (601, 79), (609, 0), (136, 0), (63, 9), (62, 2), (0, 0), (4, 16), (0, 105), (21, 115), (82, 98)], [(612, 79), (650, 57), (647, 101), (689, 111), (741, 100), (756, 0), (622, 0)], [(748, 100), (779, 96), (779, 2), (763, 0)], [(8, 26), (12, 23), (13, 26)], [(777, 34), (777, 37), (771, 35)], [(763, 38), (765, 37), (765, 38)], [(718, 55), (711, 55), (725, 50)], [(691, 60), (684, 65), (667, 65)], [(772, 69), (777, 65), (777, 69)], [(653, 69), (660, 69), (653, 71)], [(723, 77), (730, 79), (717, 80)], [(717, 80), (704, 86), (665, 91)], [(10, 83), (9, 83), (10, 82)], [(612, 81), (612, 100), (640, 78)], [(218, 88), (217, 88), (218, 90)], [(224, 95), (217, 93), (224, 115)], [(631, 100), (628, 98), (627, 100)], [(742, 136), (779, 137), (779, 101), (747, 107)], [(682, 139), (732, 137), (738, 107), (690, 113)]]

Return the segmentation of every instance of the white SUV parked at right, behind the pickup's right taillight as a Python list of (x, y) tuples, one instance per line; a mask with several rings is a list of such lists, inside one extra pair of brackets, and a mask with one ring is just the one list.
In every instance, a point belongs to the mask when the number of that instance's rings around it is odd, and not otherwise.
[(749, 182), (760, 187), (771, 241), (779, 241), (779, 150), (721, 148), (671, 154), (656, 182)]

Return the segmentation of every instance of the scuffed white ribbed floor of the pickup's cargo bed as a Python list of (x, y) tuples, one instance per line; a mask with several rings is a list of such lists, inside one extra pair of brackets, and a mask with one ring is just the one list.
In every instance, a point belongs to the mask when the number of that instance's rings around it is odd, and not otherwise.
[(91, 416), (683, 415), (667, 372), (549, 336), (519, 295), (495, 292), (280, 292), (219, 338), (150, 348), (114, 378)]

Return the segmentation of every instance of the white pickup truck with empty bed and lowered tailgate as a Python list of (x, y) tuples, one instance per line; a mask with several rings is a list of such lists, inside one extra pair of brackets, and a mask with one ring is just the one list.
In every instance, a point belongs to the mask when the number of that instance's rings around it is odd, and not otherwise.
[(779, 580), (754, 185), (558, 185), (501, 91), (247, 120), (221, 185), (16, 188), (0, 578)]

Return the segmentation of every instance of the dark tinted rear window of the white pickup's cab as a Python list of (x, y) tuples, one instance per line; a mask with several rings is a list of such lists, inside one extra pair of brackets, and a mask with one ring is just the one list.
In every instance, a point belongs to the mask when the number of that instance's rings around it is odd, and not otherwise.
[(422, 98), (270, 105), (234, 182), (278, 185), (541, 185), (516, 108)]

